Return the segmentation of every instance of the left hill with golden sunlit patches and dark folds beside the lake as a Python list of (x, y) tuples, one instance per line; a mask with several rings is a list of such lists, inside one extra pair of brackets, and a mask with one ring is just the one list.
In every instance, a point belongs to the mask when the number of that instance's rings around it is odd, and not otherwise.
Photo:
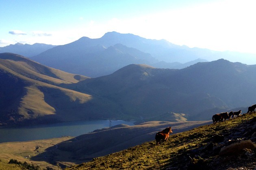
[(82, 109), (92, 99), (88, 94), (58, 87), (87, 77), (12, 53), (0, 54), (0, 77), (0, 126), (80, 120), (85, 114)]

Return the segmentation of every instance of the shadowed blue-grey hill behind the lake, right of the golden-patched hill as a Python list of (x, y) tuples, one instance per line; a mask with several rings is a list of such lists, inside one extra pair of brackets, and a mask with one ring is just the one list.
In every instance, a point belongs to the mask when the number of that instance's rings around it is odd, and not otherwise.
[(174, 112), (189, 120), (209, 120), (215, 113), (254, 104), (255, 84), (256, 65), (221, 59), (181, 70), (132, 64), (63, 87), (101, 96), (100, 103), (112, 101), (118, 106), (111, 107), (117, 115), (148, 119)]

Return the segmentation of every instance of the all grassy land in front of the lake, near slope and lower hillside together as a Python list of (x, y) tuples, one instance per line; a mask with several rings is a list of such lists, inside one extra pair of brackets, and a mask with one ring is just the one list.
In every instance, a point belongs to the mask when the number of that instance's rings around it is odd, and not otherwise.
[[(127, 125), (119, 125), (119, 127), (114, 127), (113, 129), (102, 129), (95, 133), (77, 136), (76, 138), (67, 136), (47, 140), (1, 143), (0, 169), (15, 167), (7, 164), (10, 159), (17, 159), (21, 162), (26, 161), (29, 164), (40, 166), (42, 169), (46, 167), (60, 169), (67, 166), (67, 170), (225, 170), (230, 167), (254, 170), (256, 168), (255, 144), (248, 142), (248, 140), (256, 142), (255, 113), (243, 115), (223, 123), (217, 123), (217, 125), (211, 123), (210, 125), (195, 127), (195, 124), (193, 124), (195, 122), (190, 122), (190, 126), (186, 124), (189, 122), (183, 123), (149, 122), (143, 123), (133, 130)], [(171, 134), (168, 142), (162, 142), (159, 146), (156, 146), (156, 142), (153, 140), (154, 135), (169, 125), (172, 126), (172, 130), (176, 134)], [(184, 128), (184, 125), (190, 130), (185, 132), (179, 131), (182, 130), (182, 127)], [(121, 130), (122, 128), (130, 129), (130, 131)], [(147, 133), (145, 133), (146, 128), (150, 129)], [(121, 145), (118, 143), (118, 140), (121, 140), (123, 132), (124, 143), (130, 134), (137, 133), (135, 137), (130, 136), (131, 138), (127, 140), (126, 144), (138, 141), (140, 138), (145, 138), (145, 136), (150, 136), (151, 139), (149, 142), (142, 142), (135, 147), (103, 157), (94, 155), (97, 158), (81, 164), (81, 162), (88, 160), (85, 160), (85, 157), (83, 158), (84, 160), (82, 157), (78, 159), (79, 150), (81, 155), (86, 155), (97, 147), (99, 151), (104, 152), (101, 147), (109, 144), (120, 147)], [(104, 133), (105, 139), (100, 137), (104, 136)], [(141, 135), (141, 133), (144, 134)], [(82, 140), (86, 136), (87, 140)], [(70, 147), (67, 148), (69, 143)], [(247, 143), (244, 145), (245, 147), (239, 145), (244, 143)], [(84, 146), (89, 145), (88, 149), (82, 148), (82, 144)], [(230, 148), (233, 145), (234, 147), (229, 152), (221, 149)], [(73, 154), (68, 149), (73, 151)], [(115, 151), (114, 147), (109, 147), (109, 150)], [(28, 155), (30, 157), (26, 158)]]

